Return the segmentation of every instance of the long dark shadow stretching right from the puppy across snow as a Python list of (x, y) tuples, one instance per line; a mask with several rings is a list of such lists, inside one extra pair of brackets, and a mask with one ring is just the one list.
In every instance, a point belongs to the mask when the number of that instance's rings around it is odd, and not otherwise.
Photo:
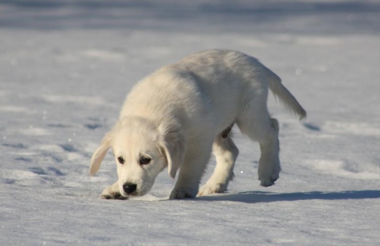
[(294, 192), (294, 193), (274, 193), (248, 191), (237, 194), (218, 194), (197, 197), (202, 201), (237, 201), (246, 203), (274, 202), (274, 201), (297, 201), (297, 200), (344, 200), (344, 199), (368, 199), (380, 198), (380, 190), (349, 190), (337, 192)]

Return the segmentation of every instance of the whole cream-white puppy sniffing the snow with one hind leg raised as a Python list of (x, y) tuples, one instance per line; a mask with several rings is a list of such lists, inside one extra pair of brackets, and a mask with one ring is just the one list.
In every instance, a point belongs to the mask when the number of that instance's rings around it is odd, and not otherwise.
[[(225, 191), (239, 153), (229, 135), (235, 123), (260, 144), (260, 184), (273, 185), (280, 173), (279, 126), (268, 113), (268, 89), (300, 118), (306, 116), (274, 72), (236, 51), (195, 53), (143, 78), (92, 156), (91, 175), (109, 148), (117, 162), (119, 179), (101, 196), (144, 195), (166, 167), (172, 178), (179, 170), (171, 199)], [(216, 167), (199, 188), (211, 151)]]

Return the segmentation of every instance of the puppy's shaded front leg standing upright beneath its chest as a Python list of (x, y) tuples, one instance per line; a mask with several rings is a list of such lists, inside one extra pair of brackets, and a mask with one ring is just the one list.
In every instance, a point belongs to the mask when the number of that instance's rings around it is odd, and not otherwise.
[(197, 148), (197, 151), (192, 151), (191, 156), (185, 157), (170, 199), (194, 198), (197, 195), (210, 152), (211, 146), (203, 150)]

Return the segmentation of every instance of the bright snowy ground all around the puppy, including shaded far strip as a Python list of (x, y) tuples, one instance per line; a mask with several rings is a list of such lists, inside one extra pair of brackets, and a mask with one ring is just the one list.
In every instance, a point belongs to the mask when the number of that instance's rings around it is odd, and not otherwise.
[[(90, 157), (126, 93), (209, 48), (259, 58), (308, 111), (270, 98), (276, 185), (235, 129), (229, 192), (167, 200), (163, 172), (144, 197), (100, 199), (116, 166), (90, 178)], [(379, 51), (378, 1), (1, 1), (0, 244), (378, 245)]]

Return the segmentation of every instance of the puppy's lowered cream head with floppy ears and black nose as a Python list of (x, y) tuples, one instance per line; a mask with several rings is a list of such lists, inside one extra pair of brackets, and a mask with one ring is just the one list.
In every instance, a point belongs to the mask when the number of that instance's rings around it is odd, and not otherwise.
[(184, 140), (176, 124), (156, 126), (139, 117), (123, 118), (95, 150), (91, 175), (97, 173), (109, 148), (115, 155), (120, 194), (144, 195), (165, 167), (170, 177), (175, 177), (183, 161)]

